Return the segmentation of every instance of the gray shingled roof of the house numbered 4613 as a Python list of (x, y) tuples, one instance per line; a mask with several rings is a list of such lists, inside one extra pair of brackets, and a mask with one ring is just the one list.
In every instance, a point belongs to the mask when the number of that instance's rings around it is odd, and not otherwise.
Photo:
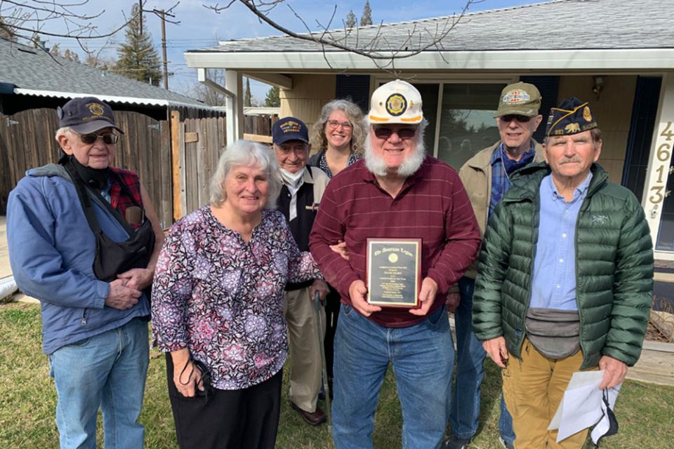
[[(436, 29), (444, 29), (456, 16), (360, 27), (358, 46), (366, 48), (377, 34), (377, 51), (413, 51), (428, 43)], [(656, 0), (556, 0), (546, 3), (468, 13), (442, 41), (428, 51), (517, 51), (569, 49), (674, 48), (674, 8)], [(409, 32), (416, 39), (408, 40)], [(343, 36), (336, 31), (335, 36)], [(356, 33), (348, 38), (355, 46)], [(372, 48), (369, 48), (372, 49)], [(308, 52), (322, 51), (310, 41), (289, 36), (225, 41), (201, 52)], [(325, 48), (325, 51), (340, 51)]]

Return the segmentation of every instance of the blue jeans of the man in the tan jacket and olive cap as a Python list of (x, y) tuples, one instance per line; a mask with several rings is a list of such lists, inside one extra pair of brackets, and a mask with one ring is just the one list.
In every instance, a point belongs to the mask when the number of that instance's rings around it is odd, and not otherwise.
[[(473, 289), (475, 279), (463, 277), (458, 281), (461, 302), (454, 311), (456, 326), (456, 383), (449, 420), (458, 438), (473, 438), (480, 417), (480, 386), (484, 377), (484, 357), (487, 353), (482, 342), (473, 333)], [(515, 441), (513, 418), (505, 408), (501, 394), (501, 417), (498, 431), (506, 443)]]

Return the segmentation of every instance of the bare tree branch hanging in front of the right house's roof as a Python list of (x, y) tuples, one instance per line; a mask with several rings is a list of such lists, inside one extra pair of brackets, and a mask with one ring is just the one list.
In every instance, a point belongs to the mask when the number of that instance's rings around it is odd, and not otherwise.
[[(272, 28), (286, 34), (287, 36), (303, 41), (314, 42), (321, 46), (326, 62), (330, 67), (331, 64), (326, 56), (327, 49), (337, 49), (341, 51), (348, 51), (357, 55), (370, 58), (380, 69), (395, 70), (395, 60), (402, 58), (411, 58), (414, 55), (427, 50), (442, 51), (442, 40), (447, 37), (451, 31), (463, 19), (465, 13), (471, 5), (480, 3), (484, 0), (465, 0), (465, 4), (459, 13), (449, 15), (444, 21), (437, 21), (432, 27), (422, 27), (420, 25), (411, 25), (407, 32), (407, 38), (402, 44), (391, 46), (386, 35), (381, 29), (383, 23), (379, 23), (378, 29), (374, 34), (368, 34), (366, 39), (359, 36), (358, 27), (344, 26), (341, 29), (334, 29), (333, 22), (337, 11), (337, 6), (333, 7), (332, 15), (325, 24), (316, 21), (319, 31), (312, 31), (306, 20), (289, 4), (289, 0), (226, 0), (226, 4), (215, 5), (204, 4), (205, 8), (210, 9), (216, 13), (222, 13), (232, 5), (239, 3), (245, 6), (258, 20), (267, 23)], [(292, 11), (295, 18), (300, 22), (305, 32), (293, 32), (288, 27), (281, 25), (279, 22), (270, 17), (270, 12), (277, 6), (287, 6)]]

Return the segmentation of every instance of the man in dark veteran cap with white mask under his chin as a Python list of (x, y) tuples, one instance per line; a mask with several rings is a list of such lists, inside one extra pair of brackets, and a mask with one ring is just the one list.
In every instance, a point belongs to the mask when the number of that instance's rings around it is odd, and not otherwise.
[[(295, 117), (280, 119), (272, 128), (272, 140), (283, 179), (278, 209), (288, 220), (300, 251), (308, 251), (309, 233), (329, 178), (320, 168), (307, 166), (309, 132), (303, 121)], [(289, 283), (284, 304), (290, 349), (290, 403), (313, 426), (326, 420), (317, 406), (322, 363), (313, 302), (316, 292), (325, 298), (329, 292), (325, 281)]]

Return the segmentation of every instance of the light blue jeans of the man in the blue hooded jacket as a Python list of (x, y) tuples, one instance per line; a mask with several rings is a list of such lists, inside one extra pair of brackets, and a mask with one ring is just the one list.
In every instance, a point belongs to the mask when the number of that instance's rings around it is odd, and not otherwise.
[(61, 347), (49, 356), (56, 385), (56, 426), (61, 449), (95, 448), (96, 415), (103, 412), (105, 449), (143, 448), (143, 407), (150, 344), (147, 322)]

